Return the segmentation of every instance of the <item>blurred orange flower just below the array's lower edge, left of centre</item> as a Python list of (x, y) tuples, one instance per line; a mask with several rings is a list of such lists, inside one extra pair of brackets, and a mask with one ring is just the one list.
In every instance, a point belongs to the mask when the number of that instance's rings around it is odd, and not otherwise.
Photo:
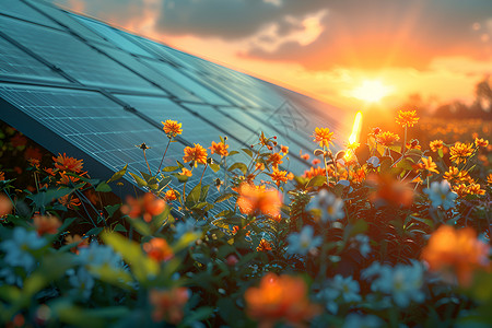
[(127, 197), (127, 203), (121, 207), (121, 213), (131, 219), (143, 216), (145, 222), (151, 222), (152, 216), (161, 214), (166, 207), (166, 202), (155, 197), (152, 192), (147, 192), (143, 197), (134, 199)]

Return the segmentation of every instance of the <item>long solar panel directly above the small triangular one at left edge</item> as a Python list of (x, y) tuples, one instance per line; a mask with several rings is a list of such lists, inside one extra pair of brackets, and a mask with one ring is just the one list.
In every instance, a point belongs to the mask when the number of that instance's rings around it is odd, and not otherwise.
[(0, 28), (83, 84), (160, 93), (151, 83), (70, 34), (1, 16)]

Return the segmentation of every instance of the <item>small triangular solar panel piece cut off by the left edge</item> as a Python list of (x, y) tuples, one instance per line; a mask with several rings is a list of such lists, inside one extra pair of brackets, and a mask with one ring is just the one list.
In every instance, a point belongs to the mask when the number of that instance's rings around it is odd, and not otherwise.
[(0, 75), (67, 81), (46, 65), (0, 37)]

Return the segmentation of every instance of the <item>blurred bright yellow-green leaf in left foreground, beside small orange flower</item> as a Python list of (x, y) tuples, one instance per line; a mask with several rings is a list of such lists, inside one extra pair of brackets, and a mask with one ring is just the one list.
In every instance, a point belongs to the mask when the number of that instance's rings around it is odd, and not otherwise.
[(159, 273), (159, 263), (142, 251), (140, 244), (117, 233), (104, 232), (102, 238), (130, 265), (131, 271), (139, 282), (147, 281), (148, 278)]

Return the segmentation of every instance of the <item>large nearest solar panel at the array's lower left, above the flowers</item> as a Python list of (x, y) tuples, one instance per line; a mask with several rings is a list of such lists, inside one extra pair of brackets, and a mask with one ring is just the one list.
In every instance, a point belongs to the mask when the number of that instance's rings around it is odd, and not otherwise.
[[(115, 172), (125, 164), (130, 172), (148, 172), (142, 150), (136, 147), (141, 142), (151, 147), (147, 157), (156, 172), (167, 145), (160, 129), (97, 92), (0, 84), (0, 96)], [(171, 143), (163, 165), (183, 162), (183, 149), (180, 143)], [(214, 178), (208, 169), (203, 184), (213, 185)], [(189, 187), (196, 184), (192, 180)], [(211, 189), (210, 197), (218, 197), (216, 190)]]

